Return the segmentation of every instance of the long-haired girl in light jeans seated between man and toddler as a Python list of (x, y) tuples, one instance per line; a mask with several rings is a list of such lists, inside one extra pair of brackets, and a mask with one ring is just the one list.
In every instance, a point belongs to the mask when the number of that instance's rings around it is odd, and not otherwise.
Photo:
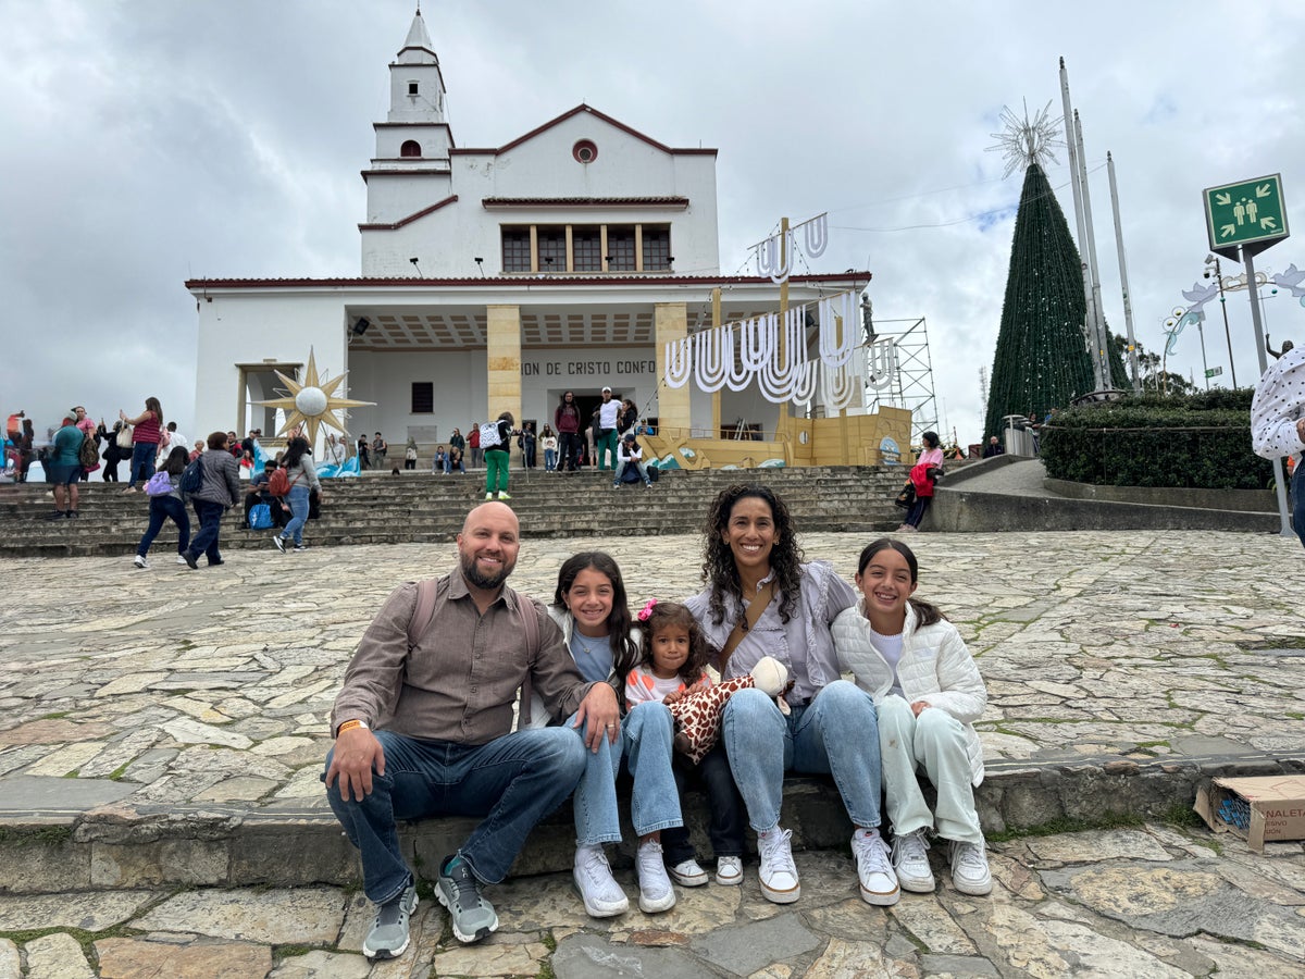
[[(624, 713), (626, 675), (639, 660), (639, 633), (632, 629), (625, 582), (612, 556), (603, 551), (583, 551), (568, 557), (557, 572), (557, 591), (548, 614), (561, 627), (566, 649), (581, 676), (590, 683), (609, 683)], [(543, 700), (531, 697), (531, 727), (562, 722), (574, 726), (576, 717), (549, 718)], [(603, 848), (604, 843), (621, 839), (616, 775), (622, 754), (634, 778), (630, 821), (639, 834), (636, 855), (639, 910), (654, 914), (675, 907), (675, 890), (662, 851), (662, 830), (683, 824), (671, 771), (673, 736), (671, 711), (663, 704), (647, 704), (626, 714), (620, 726), (609, 726), (598, 751), (587, 754), (585, 774), (576, 786), (572, 804), (576, 813), (572, 877), (591, 918), (611, 918), (624, 914), (630, 906), (621, 885), (612, 877)]]

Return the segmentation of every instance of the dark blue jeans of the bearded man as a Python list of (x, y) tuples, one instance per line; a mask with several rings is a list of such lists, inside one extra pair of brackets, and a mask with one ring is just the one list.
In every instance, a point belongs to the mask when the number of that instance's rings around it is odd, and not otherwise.
[[(381, 905), (412, 880), (403, 860), (398, 820), (484, 816), (459, 852), (484, 884), (499, 884), (530, 830), (572, 794), (589, 753), (576, 731), (543, 727), (488, 744), (424, 741), (377, 731), (385, 774), (372, 771), (372, 792), (346, 800), (339, 779), (326, 790), (335, 818), (363, 859), (363, 890)], [(330, 769), (331, 756), (326, 756)]]

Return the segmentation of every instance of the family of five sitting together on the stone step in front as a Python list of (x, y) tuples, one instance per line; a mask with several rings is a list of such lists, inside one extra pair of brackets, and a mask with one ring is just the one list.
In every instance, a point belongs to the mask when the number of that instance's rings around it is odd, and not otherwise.
[[(621, 569), (600, 551), (562, 563), (547, 607), (515, 593), (506, 582), (519, 548), (510, 508), (476, 506), (457, 567), (399, 586), (346, 671), (325, 782), (377, 909), (368, 957), (402, 954), (418, 903), (397, 820), (484, 817), (433, 868), (453, 933), (474, 942), (499, 925), (484, 886), (504, 880), (531, 828), (566, 798), (573, 878), (590, 916), (630, 906), (606, 850), (621, 839), (621, 805), (638, 837), (645, 912), (673, 907), (676, 886), (740, 884), (746, 828), (762, 894), (797, 901), (801, 876), (780, 822), (786, 771), (833, 777), (867, 903), (936, 886), (930, 837), (945, 845), (959, 893), (990, 892), (974, 801), (983, 680), (957, 629), (914, 597), (920, 569), (900, 540), (867, 546), (853, 587), (830, 563), (804, 560), (782, 499), (733, 486), (705, 522), (703, 590), (649, 599), (637, 615)], [(767, 658), (790, 677), (778, 698), (733, 683)], [(676, 711), (707, 702), (719, 739), (694, 761), (677, 748)], [(932, 808), (917, 769), (937, 788)], [(714, 873), (684, 825), (681, 794), (696, 782), (707, 792)]]

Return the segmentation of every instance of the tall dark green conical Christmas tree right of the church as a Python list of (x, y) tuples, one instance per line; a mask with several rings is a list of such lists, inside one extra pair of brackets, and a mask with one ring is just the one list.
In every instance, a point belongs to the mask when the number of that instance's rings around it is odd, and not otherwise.
[(1006, 415), (1041, 420), (1095, 388), (1086, 308), (1078, 248), (1047, 175), (1031, 161), (1015, 214), (984, 439), (1002, 431)]

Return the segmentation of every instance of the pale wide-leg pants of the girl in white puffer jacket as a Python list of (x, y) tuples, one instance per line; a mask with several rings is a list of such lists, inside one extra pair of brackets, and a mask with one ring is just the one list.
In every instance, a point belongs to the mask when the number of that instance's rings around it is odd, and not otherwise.
[[(933, 828), (944, 839), (983, 843), (975, 791), (970, 782), (966, 728), (938, 707), (911, 713), (902, 697), (889, 696), (878, 705), (880, 756), (889, 820), (897, 835)], [(938, 790), (937, 813), (930, 813), (916, 781), (917, 765)]]

